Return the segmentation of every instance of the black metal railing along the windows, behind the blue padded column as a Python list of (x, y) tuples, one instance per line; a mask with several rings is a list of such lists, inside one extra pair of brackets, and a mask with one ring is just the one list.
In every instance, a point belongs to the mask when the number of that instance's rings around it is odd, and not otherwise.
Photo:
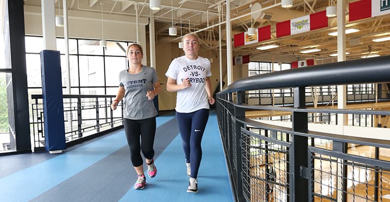
[[(122, 127), (122, 105), (112, 111), (114, 95), (63, 95), (65, 140), (67, 145), (96, 137)], [(44, 109), (42, 94), (31, 95), (30, 121), (34, 150), (45, 147)]]

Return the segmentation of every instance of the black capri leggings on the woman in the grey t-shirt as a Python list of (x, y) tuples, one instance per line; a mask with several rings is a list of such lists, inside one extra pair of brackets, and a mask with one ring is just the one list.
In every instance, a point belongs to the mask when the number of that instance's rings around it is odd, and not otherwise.
[[(142, 165), (141, 150), (146, 159), (153, 159), (153, 143), (156, 128), (155, 117), (141, 120), (123, 118), (123, 125), (125, 127), (127, 143), (130, 147), (130, 158), (133, 166), (138, 167)], [(140, 137), (141, 143), (139, 141)]]

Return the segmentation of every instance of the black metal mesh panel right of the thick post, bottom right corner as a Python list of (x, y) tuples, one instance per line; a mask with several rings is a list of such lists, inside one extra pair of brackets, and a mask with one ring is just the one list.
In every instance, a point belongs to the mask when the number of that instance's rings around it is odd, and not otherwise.
[(388, 162), (310, 147), (313, 201), (390, 201)]

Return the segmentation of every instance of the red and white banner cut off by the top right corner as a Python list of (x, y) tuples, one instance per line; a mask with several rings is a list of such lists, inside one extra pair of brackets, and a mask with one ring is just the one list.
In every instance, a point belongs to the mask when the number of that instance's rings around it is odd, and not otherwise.
[(390, 0), (361, 0), (349, 3), (349, 22), (390, 13)]

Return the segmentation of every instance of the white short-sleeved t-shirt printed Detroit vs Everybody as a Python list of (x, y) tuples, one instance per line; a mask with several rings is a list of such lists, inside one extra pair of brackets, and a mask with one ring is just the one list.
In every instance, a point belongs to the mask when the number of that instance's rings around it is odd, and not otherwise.
[(172, 61), (165, 75), (176, 80), (176, 84), (183, 83), (185, 78), (191, 82), (191, 87), (177, 91), (176, 112), (191, 113), (200, 109), (210, 109), (206, 91), (206, 77), (211, 76), (210, 61), (198, 57), (190, 60), (181, 56)]

